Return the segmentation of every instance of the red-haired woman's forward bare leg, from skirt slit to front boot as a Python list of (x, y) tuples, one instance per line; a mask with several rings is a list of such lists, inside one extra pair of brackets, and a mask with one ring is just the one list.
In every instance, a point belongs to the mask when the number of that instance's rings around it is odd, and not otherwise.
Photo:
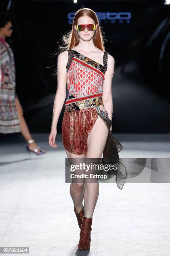
[[(86, 158), (101, 158), (102, 152), (105, 148), (107, 141), (108, 128), (98, 116), (92, 131), (89, 133), (87, 138), (87, 155)], [(84, 192), (84, 203), (85, 203), (85, 217), (92, 217), (95, 210), (99, 195), (99, 184), (96, 183), (85, 183)]]

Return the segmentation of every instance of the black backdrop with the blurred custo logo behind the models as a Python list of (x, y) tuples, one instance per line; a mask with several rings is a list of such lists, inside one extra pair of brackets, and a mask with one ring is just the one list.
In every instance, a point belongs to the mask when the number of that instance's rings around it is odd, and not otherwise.
[[(80, 8), (94, 10), (105, 50), (115, 58), (113, 132), (169, 133), (170, 6), (155, 1), (3, 1), (13, 16), (16, 92), (31, 132), (50, 133), (57, 78), (52, 75)], [(63, 110), (57, 131), (61, 132)]]

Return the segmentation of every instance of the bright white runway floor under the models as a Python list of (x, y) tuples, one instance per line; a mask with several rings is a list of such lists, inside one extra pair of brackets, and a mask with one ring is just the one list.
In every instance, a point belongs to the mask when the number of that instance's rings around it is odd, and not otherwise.
[[(1, 141), (0, 247), (29, 247), (30, 256), (170, 255), (169, 183), (125, 183), (122, 190), (100, 183), (90, 251), (78, 251), (80, 229), (65, 183), (67, 155), (61, 135), (57, 149), (50, 148), (48, 136), (33, 134), (47, 150), (43, 156), (29, 154), (23, 139)], [(170, 158), (168, 134), (114, 136), (123, 146), (120, 158)], [(147, 172), (140, 175), (147, 181)]]

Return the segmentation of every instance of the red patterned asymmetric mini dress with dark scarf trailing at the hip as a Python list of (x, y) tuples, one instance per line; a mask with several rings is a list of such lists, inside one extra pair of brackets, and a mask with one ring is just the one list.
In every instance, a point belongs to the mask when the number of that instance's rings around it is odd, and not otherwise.
[[(107, 70), (108, 52), (104, 51), (103, 65), (68, 49), (67, 61), (67, 90), (65, 110), (62, 120), (62, 142), (67, 151), (74, 154), (87, 154), (87, 137), (95, 124), (97, 117), (103, 120), (108, 128), (108, 136), (103, 150), (103, 161), (119, 162), (118, 153), (122, 145), (110, 131), (112, 120), (107, 111), (101, 110), (103, 105), (102, 91)], [(120, 163), (120, 162), (119, 162)], [(127, 178), (125, 166), (120, 163), (117, 171), (110, 173), (116, 175), (117, 186), (122, 189)], [(121, 170), (120, 170), (121, 169)], [(109, 172), (108, 172), (109, 173)], [(118, 185), (119, 184), (119, 185)]]

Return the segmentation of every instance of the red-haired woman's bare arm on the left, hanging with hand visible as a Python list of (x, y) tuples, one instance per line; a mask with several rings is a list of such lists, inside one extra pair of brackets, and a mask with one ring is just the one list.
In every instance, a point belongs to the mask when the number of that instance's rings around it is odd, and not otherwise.
[(59, 119), (63, 104), (65, 102), (65, 97), (66, 97), (67, 61), (68, 61), (68, 52), (67, 51), (61, 52), (57, 58), (57, 92), (55, 94), (55, 99), (54, 99), (51, 133), (49, 136), (49, 144), (53, 148), (57, 147), (57, 145), (55, 144), (55, 137), (57, 134), (57, 123), (58, 123), (58, 119)]

